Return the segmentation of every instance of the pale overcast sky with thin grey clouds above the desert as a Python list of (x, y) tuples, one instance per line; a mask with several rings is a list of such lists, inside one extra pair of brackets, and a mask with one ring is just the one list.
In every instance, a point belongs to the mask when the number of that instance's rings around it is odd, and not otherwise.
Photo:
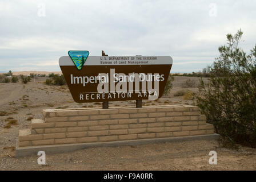
[[(173, 57), (171, 72), (199, 71), (226, 34), (256, 43), (256, 1), (0, 1), (0, 71), (60, 71), (69, 50), (91, 56)], [(90, 56), (89, 55), (89, 56)]]

